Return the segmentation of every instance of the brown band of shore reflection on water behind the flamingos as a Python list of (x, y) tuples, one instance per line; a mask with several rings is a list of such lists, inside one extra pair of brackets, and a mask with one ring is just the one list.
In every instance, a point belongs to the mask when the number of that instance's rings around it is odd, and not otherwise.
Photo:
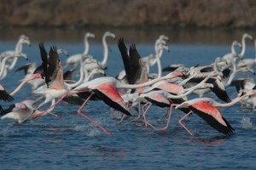
[(32, 28), (9, 28), (1, 29), (1, 41), (15, 41), (20, 34), (26, 34), (32, 41), (51, 42), (83, 42), (84, 33), (90, 31), (96, 34), (94, 42), (102, 42), (104, 31), (112, 31), (117, 37), (125, 37), (127, 42), (154, 42), (164, 34), (170, 37), (171, 43), (209, 43), (209, 44), (231, 44), (234, 40), (241, 40), (244, 32), (255, 37), (252, 30), (196, 30), (196, 29), (116, 29), (116, 28), (84, 28), (84, 29), (32, 29)]

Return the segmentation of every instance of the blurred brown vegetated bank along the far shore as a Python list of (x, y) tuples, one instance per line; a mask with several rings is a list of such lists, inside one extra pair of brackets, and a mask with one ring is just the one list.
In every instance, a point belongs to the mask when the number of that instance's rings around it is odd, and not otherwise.
[(0, 0), (0, 27), (256, 28), (254, 0)]

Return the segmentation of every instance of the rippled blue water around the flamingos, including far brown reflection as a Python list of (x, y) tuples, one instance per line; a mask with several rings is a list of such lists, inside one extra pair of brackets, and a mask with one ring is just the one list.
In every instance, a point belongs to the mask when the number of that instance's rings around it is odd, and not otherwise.
[[(87, 31), (87, 30), (86, 30)], [(102, 34), (106, 29), (88, 30), (96, 34), (90, 41), (90, 54), (102, 59)], [(125, 37), (127, 45), (136, 42), (142, 55), (154, 52), (154, 40), (160, 34), (170, 37), (170, 52), (164, 52), (163, 67), (173, 63), (192, 66), (210, 64), (215, 57), (230, 52), (230, 44), (241, 40), (245, 31), (167, 31), (167, 30), (108, 30), (117, 37)], [(252, 33), (252, 31), (247, 31)], [(40, 61), (38, 42), (46, 48), (57, 45), (68, 53), (84, 51), (84, 33), (79, 30), (22, 30), (9, 29), (0, 32), (0, 52), (14, 49), (21, 33), (31, 38), (32, 47), (24, 47), (29, 62)], [(255, 34), (253, 35), (255, 37)], [(108, 40), (109, 52), (107, 74), (116, 76), (123, 70), (117, 48), (117, 40)], [(247, 41), (245, 58), (253, 58), (253, 41)], [(61, 58), (64, 61), (65, 57)], [(16, 68), (27, 61), (19, 59)], [(152, 71), (156, 71), (156, 67)], [(1, 83), (12, 91), (23, 73), (11, 71)], [(240, 77), (253, 77), (242, 74)], [(228, 88), (230, 98), (236, 97), (234, 88)], [(216, 99), (212, 94), (207, 94)], [(15, 95), (15, 102), (35, 99), (26, 85)], [(4, 108), (9, 104), (1, 103)], [(203, 122), (198, 116), (189, 116), (184, 124), (195, 133), (189, 134), (178, 123), (177, 112), (172, 115), (171, 127), (166, 132), (156, 132), (140, 122), (125, 119), (116, 125), (118, 113), (102, 101), (91, 101), (83, 109), (90, 118), (106, 127), (112, 136), (102, 133), (84, 118), (77, 116), (78, 106), (61, 103), (54, 116), (44, 116), (36, 122), (17, 124), (12, 120), (0, 122), (1, 169), (254, 169), (256, 166), (255, 111), (242, 109), (241, 105), (221, 108), (220, 111), (236, 129), (231, 137), (225, 137)], [(152, 107), (148, 120), (156, 127), (164, 127), (160, 121), (166, 110)], [(253, 123), (252, 125), (250, 123)]]

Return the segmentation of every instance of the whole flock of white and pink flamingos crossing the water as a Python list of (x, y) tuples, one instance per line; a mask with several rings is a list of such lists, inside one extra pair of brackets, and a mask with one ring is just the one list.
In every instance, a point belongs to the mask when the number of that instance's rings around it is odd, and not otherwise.
[[(106, 76), (108, 66), (108, 43), (107, 37), (115, 39), (112, 32), (105, 32), (102, 37), (104, 47), (102, 61), (97, 61), (89, 54), (89, 39), (94, 38), (93, 33), (84, 36), (84, 53), (69, 56), (65, 63), (61, 64), (59, 55), (67, 55), (67, 50), (52, 46), (49, 50), (44, 48), (44, 42), (38, 44), (42, 64), (28, 63), (22, 65), (16, 71), (25, 71), (25, 78), (20, 85), (11, 93), (7, 93), (0, 85), (0, 99), (9, 102), (15, 99), (15, 94), (26, 83), (32, 87), (32, 94), (38, 99), (26, 99), (8, 109), (0, 108), (1, 119), (10, 118), (22, 123), (35, 121), (43, 116), (53, 115), (54, 108), (61, 100), (70, 105), (80, 105), (78, 114), (102, 129), (104, 133), (112, 134), (97, 122), (82, 113), (84, 105), (89, 100), (102, 100), (122, 116), (119, 123), (127, 116), (136, 116), (134, 121), (143, 121), (145, 126), (153, 127), (157, 131), (165, 131), (169, 127), (173, 109), (183, 112), (184, 116), (179, 119), (179, 124), (190, 134), (183, 120), (195, 113), (219, 133), (232, 135), (235, 131), (230, 123), (224, 118), (219, 107), (230, 107), (240, 102), (245, 107), (255, 109), (256, 86), (253, 77), (236, 78), (239, 72), (253, 72), (255, 59), (243, 59), (246, 50), (246, 40), (253, 39), (247, 33), (241, 37), (241, 42), (234, 41), (231, 51), (222, 57), (216, 58), (209, 65), (195, 65), (187, 67), (183, 64), (172, 64), (161, 69), (160, 58), (164, 50), (168, 50), (169, 38), (160, 35), (154, 43), (154, 54), (141, 57), (136, 44), (126, 48), (123, 37), (118, 39), (120, 57), (123, 59), (124, 70), (117, 73), (117, 77)], [(0, 79), (8, 76), (20, 57), (27, 59), (22, 53), (22, 46), (30, 45), (29, 37), (21, 35), (15, 50), (5, 51), (0, 54)], [(241, 48), (239, 53), (237, 48)], [(256, 40), (255, 40), (256, 49)], [(49, 51), (49, 52), (48, 52)], [(71, 66), (72, 69), (64, 73), (63, 68)], [(157, 73), (151, 73), (150, 68), (158, 66)], [(73, 71), (79, 69), (79, 79), (74, 80)], [(162, 71), (168, 71), (162, 76)], [(253, 75), (253, 74), (250, 74)], [(237, 97), (230, 99), (226, 88), (235, 86)], [(213, 92), (215, 99), (204, 97), (204, 94)], [(189, 95), (197, 94), (197, 95)], [(198, 96), (195, 98), (195, 96)], [(194, 97), (194, 98), (191, 98)], [(37, 104), (41, 101), (40, 104)], [(42, 110), (42, 106), (51, 102), (48, 109)], [(151, 105), (166, 108), (166, 126), (157, 128), (147, 119), (147, 113)], [(137, 110), (131, 110), (137, 108)], [(135, 113), (136, 112), (136, 113)]]

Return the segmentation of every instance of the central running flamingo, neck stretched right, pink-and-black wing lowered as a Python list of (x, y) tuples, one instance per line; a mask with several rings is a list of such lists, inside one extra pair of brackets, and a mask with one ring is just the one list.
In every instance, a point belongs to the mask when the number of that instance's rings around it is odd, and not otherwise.
[[(144, 86), (151, 85), (152, 83), (158, 82), (160, 80), (170, 79), (170, 78), (172, 79), (174, 77), (178, 77), (178, 76), (182, 76), (182, 75), (183, 74), (180, 71), (172, 72), (172, 73), (169, 73), (168, 75), (166, 75), (165, 77), (156, 78), (154, 80), (144, 82), (142, 84), (136, 84), (136, 85), (123, 84), (113, 77), (99, 77), (99, 78), (93, 79), (89, 82), (84, 82), (81, 85), (79, 85), (77, 88), (74, 88), (73, 91), (71, 91), (67, 94), (64, 94), (58, 101), (55, 102), (55, 105), (58, 104), (62, 99), (64, 99), (68, 95), (79, 94), (82, 92), (93, 92), (100, 99), (102, 99), (107, 105), (113, 107), (113, 109), (121, 111), (124, 114), (126, 114), (127, 116), (131, 116), (131, 113), (127, 110), (124, 100), (121, 98), (121, 96), (117, 92), (117, 90), (116, 90), (117, 88), (142, 88)], [(90, 94), (88, 99), (86, 99), (84, 101), (84, 104), (81, 105), (81, 107), (79, 108), (79, 111), (78, 111), (79, 115), (84, 116), (88, 120), (90, 120), (90, 118), (88, 116), (85, 116), (84, 114), (82, 114), (81, 109), (84, 107), (84, 105), (87, 103), (87, 101), (90, 99), (91, 96), (92, 96), (92, 94)], [(51, 105), (49, 107), (49, 109), (52, 109), (53, 107), (55, 107), (55, 105)], [(49, 111), (49, 109), (38, 114), (38, 116), (36, 118), (43, 116), (46, 111)], [(105, 133), (111, 134), (106, 129), (104, 129), (103, 127), (98, 125), (96, 122), (93, 122), (93, 123), (97, 127), (100, 127)]]

